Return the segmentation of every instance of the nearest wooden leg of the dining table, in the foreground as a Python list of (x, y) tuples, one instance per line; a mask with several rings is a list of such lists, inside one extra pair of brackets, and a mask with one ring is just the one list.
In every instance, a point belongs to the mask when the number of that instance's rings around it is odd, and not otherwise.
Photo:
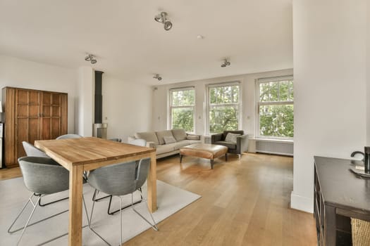
[(68, 245), (82, 245), (82, 173), (83, 166), (69, 170)]

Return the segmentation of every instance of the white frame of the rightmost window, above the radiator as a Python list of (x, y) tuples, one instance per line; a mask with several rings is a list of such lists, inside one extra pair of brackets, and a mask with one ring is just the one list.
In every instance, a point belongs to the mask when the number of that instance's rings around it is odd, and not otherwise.
[[(293, 100), (292, 101), (269, 101), (269, 102), (261, 102), (259, 101), (260, 96), (260, 84), (267, 83), (267, 82), (282, 82), (282, 81), (292, 81), (293, 84)], [(278, 91), (280, 93), (280, 90)], [(288, 92), (289, 94), (289, 92)], [(293, 137), (285, 137), (285, 136), (263, 136), (260, 132), (260, 115), (259, 115), (259, 108), (263, 105), (293, 105), (294, 106), (294, 77), (293, 75), (285, 75), (285, 76), (279, 76), (279, 77), (267, 77), (267, 78), (260, 78), (256, 79), (256, 131), (255, 136), (257, 138), (268, 138), (268, 139), (276, 139), (276, 140), (290, 140), (292, 141), (294, 139)], [(294, 117), (294, 112), (293, 112)], [(294, 135), (294, 134), (293, 134)]]

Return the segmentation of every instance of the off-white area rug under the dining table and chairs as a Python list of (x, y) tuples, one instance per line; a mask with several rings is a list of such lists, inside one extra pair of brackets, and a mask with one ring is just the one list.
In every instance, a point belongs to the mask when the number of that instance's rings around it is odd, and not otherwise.
[[(92, 208), (92, 193), (94, 189), (88, 184), (84, 185), (84, 196), (87, 203), (87, 211), (90, 216)], [(147, 197), (147, 186), (143, 186), (143, 193), (145, 198)], [(30, 196), (30, 192), (25, 188), (23, 178), (10, 179), (6, 181), (0, 181), (0, 245), (16, 245), (20, 231), (8, 234), (8, 227), (11, 225), (13, 219), (16, 218), (20, 209), (22, 209), (27, 198)], [(104, 193), (99, 193), (99, 197)], [(48, 200), (55, 200), (56, 198), (63, 198), (68, 196), (68, 190), (57, 195), (49, 195), (44, 198), (43, 202)], [(135, 194), (135, 198), (139, 198), (139, 193)], [(134, 198), (134, 199), (135, 199)], [(157, 204), (158, 210), (154, 212), (153, 217), (156, 223), (166, 219), (171, 214), (174, 214), (183, 207), (189, 205), (195, 200), (199, 199), (200, 195), (190, 193), (186, 190), (176, 188), (164, 183), (157, 181)], [(130, 195), (126, 195), (123, 199), (123, 204), (129, 204)], [(92, 218), (92, 227), (105, 238), (111, 245), (119, 245), (120, 236), (120, 216), (119, 213), (113, 216), (108, 215), (106, 210), (108, 208), (109, 199), (102, 200), (101, 202), (95, 202), (94, 215)], [(151, 221), (147, 209), (144, 207), (145, 202), (141, 202), (135, 208), (143, 214), (149, 221)], [(25, 210), (23, 215), (18, 219), (18, 223), (15, 228), (19, 228), (25, 224), (27, 216), (30, 214), (32, 206), (28, 205), (28, 209)], [(68, 209), (68, 200), (57, 202), (54, 205), (47, 207), (37, 207), (32, 221), (43, 219), (46, 216), (61, 212)], [(118, 209), (118, 198), (113, 198), (113, 209)], [(123, 241), (127, 241), (130, 238), (135, 237), (151, 228), (143, 219), (140, 218), (132, 209), (127, 208), (123, 210)], [(83, 225), (87, 224), (85, 215), (85, 209), (83, 213)], [(152, 228), (151, 228), (152, 230)], [(159, 230), (161, 227), (159, 226)], [(20, 245), (38, 245), (41, 242), (54, 238), (58, 235), (68, 232), (68, 212), (58, 215), (47, 221), (43, 221), (34, 226), (30, 226), (25, 231), (25, 235), (20, 242)], [(49, 242), (47, 245), (68, 245), (68, 236)], [(89, 228), (82, 228), (82, 245), (105, 245), (100, 238), (97, 237)]]

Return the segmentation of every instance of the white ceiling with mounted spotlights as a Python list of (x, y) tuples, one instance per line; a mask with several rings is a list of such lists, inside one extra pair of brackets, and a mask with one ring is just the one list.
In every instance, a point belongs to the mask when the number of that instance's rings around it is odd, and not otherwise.
[(86, 53), (96, 70), (152, 85), (291, 68), (292, 0), (0, 0), (0, 54), (77, 68)]

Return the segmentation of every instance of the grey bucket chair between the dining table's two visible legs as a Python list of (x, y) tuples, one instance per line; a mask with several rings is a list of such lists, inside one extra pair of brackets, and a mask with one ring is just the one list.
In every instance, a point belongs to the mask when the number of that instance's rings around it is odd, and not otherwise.
[[(136, 162), (125, 162), (120, 164), (113, 164), (106, 167), (101, 167), (99, 169), (94, 169), (90, 171), (90, 174), (88, 176), (87, 182), (90, 183), (90, 186), (96, 188), (97, 190), (100, 190), (101, 192), (104, 192), (109, 195), (118, 196), (120, 201), (120, 208), (122, 195), (128, 195), (131, 194), (131, 206), (133, 211), (138, 214), (142, 219), (147, 221), (147, 223), (154, 228), (155, 231), (158, 231), (158, 228), (156, 227), (156, 222), (153, 219), (152, 214), (150, 216), (152, 217), (153, 224), (151, 224), (147, 219), (145, 219), (142, 214), (137, 212), (137, 210), (134, 207), (133, 204), (133, 193), (136, 190), (140, 190), (142, 185), (147, 180), (147, 175), (149, 171), (149, 165), (150, 165), (150, 158), (142, 159), (139, 162), (138, 167), (136, 168)], [(141, 190), (140, 190), (141, 193)], [(145, 198), (143, 198), (145, 203), (147, 201)], [(101, 238), (101, 240), (104, 240), (106, 244), (110, 245), (109, 242), (107, 242), (104, 238), (101, 237), (94, 229), (92, 229), (91, 223), (92, 223), (92, 214), (94, 212), (94, 205), (95, 202), (92, 203), (92, 211), (90, 215), (90, 229)], [(121, 244), (122, 245), (122, 209), (119, 209), (120, 211), (120, 218), (121, 218)]]

